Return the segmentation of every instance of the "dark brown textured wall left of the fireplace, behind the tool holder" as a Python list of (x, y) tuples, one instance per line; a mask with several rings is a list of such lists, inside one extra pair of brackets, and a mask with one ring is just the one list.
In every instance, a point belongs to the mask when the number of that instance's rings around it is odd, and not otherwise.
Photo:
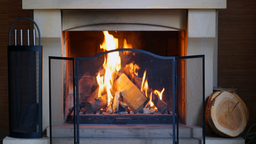
[[(7, 76), (8, 35), (11, 25), (20, 17), (30, 17), (30, 10), (22, 9), (22, 0), (0, 0), (0, 137), (4, 135), (1, 134), (2, 131), (9, 129)], [(20, 20), (16, 23), (14, 29), (30, 29), (30, 22), (28, 20)], [(26, 34), (25, 32), (23, 33)], [(13, 45), (13, 35), (11, 35), (11, 38), (11, 45)], [(24, 37), (23, 39), (23, 43), (26, 44), (26, 38)]]

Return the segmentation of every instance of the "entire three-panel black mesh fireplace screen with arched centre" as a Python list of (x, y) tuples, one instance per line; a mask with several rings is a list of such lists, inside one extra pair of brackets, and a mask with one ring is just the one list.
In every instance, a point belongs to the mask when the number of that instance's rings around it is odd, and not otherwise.
[[(203, 143), (203, 60), (128, 48), (85, 58), (49, 57), (51, 143)], [(188, 92), (198, 95), (190, 105), (199, 107), (197, 123), (189, 122), (198, 114), (186, 105)]]

